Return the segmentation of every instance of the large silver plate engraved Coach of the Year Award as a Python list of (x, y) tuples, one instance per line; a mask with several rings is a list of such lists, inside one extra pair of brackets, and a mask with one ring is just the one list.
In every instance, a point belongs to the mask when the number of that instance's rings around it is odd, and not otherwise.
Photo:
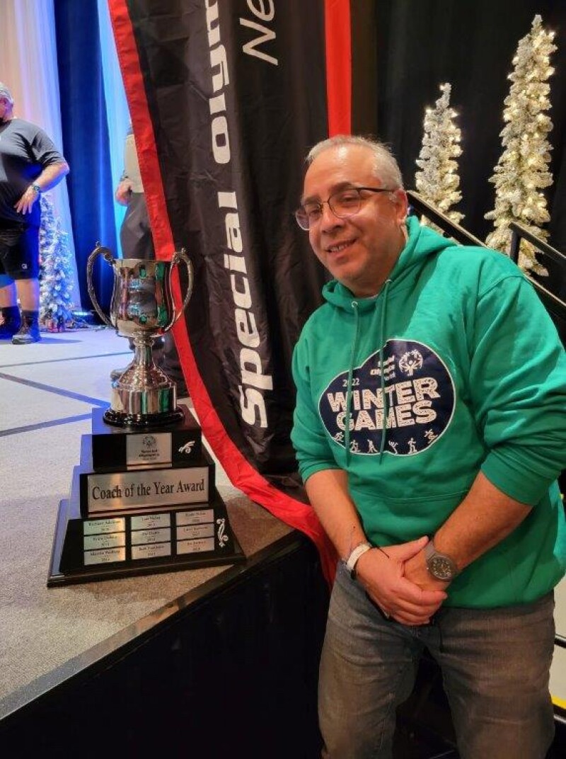
[(208, 467), (88, 474), (89, 514), (208, 499)]

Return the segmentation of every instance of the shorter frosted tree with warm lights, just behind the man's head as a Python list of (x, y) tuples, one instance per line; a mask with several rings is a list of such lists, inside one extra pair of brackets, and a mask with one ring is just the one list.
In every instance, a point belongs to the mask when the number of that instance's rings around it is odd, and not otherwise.
[[(424, 118), (423, 146), (417, 159), (421, 171), (415, 175), (417, 191), (448, 219), (458, 224), (464, 215), (452, 206), (461, 200), (458, 156), (461, 156), (461, 131), (450, 107), (451, 85), (440, 85), (442, 96), (434, 108), (427, 108)], [(421, 223), (432, 225), (423, 217)]]

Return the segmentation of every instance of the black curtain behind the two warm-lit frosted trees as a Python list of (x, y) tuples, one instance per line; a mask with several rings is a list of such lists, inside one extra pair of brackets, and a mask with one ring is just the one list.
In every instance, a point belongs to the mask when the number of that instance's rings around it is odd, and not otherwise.
[[(395, 0), (377, 2), (377, 124), (390, 143), (408, 189), (414, 188), (415, 161), (423, 139), (423, 116), (452, 85), (451, 104), (462, 130), (460, 178), (465, 214), (462, 225), (480, 238), (492, 229), (483, 215), (493, 208), (489, 177), (502, 152), (503, 100), (519, 39), (536, 14), (556, 32), (549, 80), (554, 128), (549, 134), (554, 184), (546, 191), (552, 222), (550, 244), (566, 251), (566, 4), (556, 0)], [(555, 283), (558, 289), (563, 283)]]

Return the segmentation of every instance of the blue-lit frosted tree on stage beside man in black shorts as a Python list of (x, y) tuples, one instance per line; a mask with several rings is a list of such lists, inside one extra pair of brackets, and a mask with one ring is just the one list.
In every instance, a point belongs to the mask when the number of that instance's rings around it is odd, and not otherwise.
[(67, 232), (49, 197), (42, 195), (39, 228), (39, 323), (46, 329), (61, 329), (71, 322), (73, 270)]

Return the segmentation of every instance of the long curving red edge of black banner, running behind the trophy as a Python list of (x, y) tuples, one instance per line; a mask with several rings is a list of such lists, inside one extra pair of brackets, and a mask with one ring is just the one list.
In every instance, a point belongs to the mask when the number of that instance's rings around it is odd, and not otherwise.
[[(124, 88), (130, 106), (130, 115), (134, 124), (136, 146), (140, 158), (140, 170), (146, 193), (149, 219), (156, 247), (156, 256), (170, 260), (175, 250), (171, 226), (168, 221), (165, 194), (161, 180), (161, 171), (157, 157), (153, 124), (149, 116), (146, 90), (143, 86), (143, 74), (134, 38), (134, 29), (127, 11), (126, 0), (108, 0), (112, 27), (116, 40), (116, 49), (120, 61)], [(189, 251), (190, 253), (190, 251)], [(181, 302), (181, 291), (175, 283), (175, 301)], [(198, 283), (196, 285), (198, 287)], [(199, 417), (200, 426), (206, 440), (231, 483), (242, 490), (250, 499), (263, 505), (269, 512), (297, 528), (316, 543), (319, 550), (322, 572), (332, 581), (335, 573), (336, 556), (313, 509), (304, 503), (285, 495), (273, 487), (244, 458), (241, 451), (228, 436), (222, 421), (212, 406), (209, 394), (200, 376), (194, 354), (187, 335), (187, 326), (183, 319), (173, 329), (175, 345), (178, 349), (181, 366), (187, 381), (190, 398)]]

